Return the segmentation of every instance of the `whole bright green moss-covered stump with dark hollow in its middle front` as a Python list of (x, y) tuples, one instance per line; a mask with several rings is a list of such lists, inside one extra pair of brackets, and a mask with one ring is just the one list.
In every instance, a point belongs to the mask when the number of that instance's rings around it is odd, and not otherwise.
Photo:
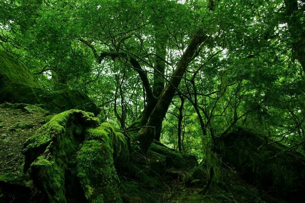
[(93, 114), (54, 116), (29, 138), (24, 170), (49, 202), (121, 202), (114, 164), (128, 159), (127, 139)]

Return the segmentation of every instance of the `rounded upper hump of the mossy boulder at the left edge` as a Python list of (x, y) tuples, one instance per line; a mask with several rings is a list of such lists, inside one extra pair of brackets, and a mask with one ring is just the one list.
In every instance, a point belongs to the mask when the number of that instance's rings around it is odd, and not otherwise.
[(37, 86), (32, 74), (15, 57), (0, 50), (0, 87), (7, 82)]

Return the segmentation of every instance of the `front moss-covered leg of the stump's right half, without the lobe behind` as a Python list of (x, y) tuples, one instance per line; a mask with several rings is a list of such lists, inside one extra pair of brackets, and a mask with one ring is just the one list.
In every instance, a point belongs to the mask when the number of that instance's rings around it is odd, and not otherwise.
[(77, 153), (77, 176), (89, 202), (121, 202), (112, 149), (107, 142), (87, 140)]

